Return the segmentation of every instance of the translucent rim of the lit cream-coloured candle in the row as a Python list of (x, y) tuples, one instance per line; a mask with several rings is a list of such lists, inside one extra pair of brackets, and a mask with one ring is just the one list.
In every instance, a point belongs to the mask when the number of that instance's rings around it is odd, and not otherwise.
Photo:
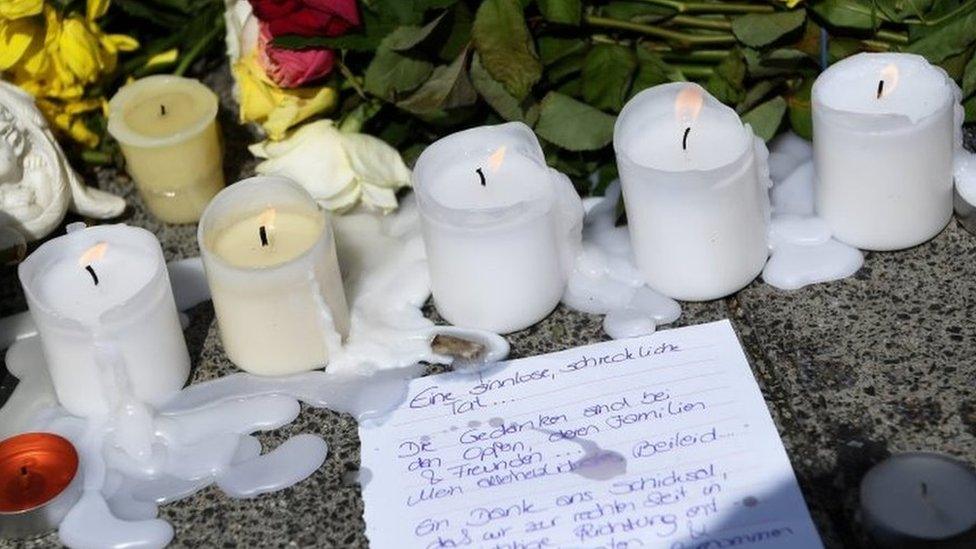
[[(220, 226), (218, 226), (220, 225), (218, 223), (219, 221), (223, 221), (224, 219), (231, 219), (230, 222), (232, 223), (233, 219), (240, 220), (246, 218), (249, 215), (254, 215), (256, 213), (261, 212), (262, 209), (280, 207), (282, 209), (287, 210), (287, 209), (292, 209), (289, 206), (297, 204), (297, 203), (290, 203), (288, 206), (285, 206), (285, 205), (275, 205), (273, 203), (267, 203), (267, 204), (263, 204), (262, 206), (254, 207), (253, 209), (248, 209), (246, 212), (243, 213), (235, 212), (233, 216), (226, 215), (220, 211), (222, 208), (226, 207), (228, 201), (235, 200), (234, 197), (238, 193), (247, 193), (249, 189), (255, 189), (255, 188), (265, 188), (265, 190), (267, 190), (266, 187), (268, 185), (283, 185), (288, 187), (289, 190), (295, 192), (296, 194), (302, 195), (303, 198), (307, 198), (309, 201), (308, 213), (310, 215), (320, 216), (320, 221), (321, 221), (320, 227), (322, 229), (322, 233), (315, 240), (315, 242), (308, 247), (308, 249), (296, 255), (295, 257), (292, 257), (287, 261), (283, 261), (275, 265), (268, 265), (264, 267), (258, 267), (258, 266), (249, 267), (249, 266), (242, 266), (227, 261), (226, 259), (221, 257), (220, 254), (214, 251), (211, 238), (209, 236), (209, 233), (220, 229)], [(294, 208), (294, 209), (297, 210), (298, 208)], [(203, 214), (200, 216), (200, 223), (197, 225), (197, 243), (200, 245), (201, 252), (206, 253), (207, 257), (210, 260), (220, 265), (221, 267), (238, 271), (238, 272), (247, 272), (247, 273), (258, 273), (258, 272), (265, 273), (265, 272), (277, 271), (279, 269), (289, 268), (289, 266), (302, 261), (304, 258), (314, 253), (316, 246), (319, 246), (320, 243), (323, 242), (323, 240), (328, 240), (328, 239), (335, 239), (335, 235), (332, 230), (332, 224), (329, 222), (327, 212), (324, 209), (322, 209), (322, 207), (318, 204), (318, 202), (315, 201), (312, 195), (309, 194), (308, 190), (305, 189), (305, 187), (302, 187), (293, 179), (278, 176), (278, 175), (257, 175), (254, 177), (248, 177), (246, 179), (242, 179), (236, 183), (224, 187), (219, 193), (217, 193), (216, 196), (214, 196), (213, 200), (210, 201), (210, 204), (207, 205), (207, 208), (203, 211)]]

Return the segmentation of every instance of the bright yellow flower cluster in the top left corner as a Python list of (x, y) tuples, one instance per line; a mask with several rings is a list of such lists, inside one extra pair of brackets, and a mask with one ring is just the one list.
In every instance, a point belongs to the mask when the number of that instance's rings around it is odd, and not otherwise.
[(97, 145), (98, 135), (84, 119), (105, 100), (86, 91), (115, 71), (119, 52), (139, 47), (102, 32), (96, 20), (108, 7), (109, 0), (88, 0), (84, 15), (62, 16), (41, 0), (0, 0), (0, 71), (35, 97), (55, 129), (87, 146)]

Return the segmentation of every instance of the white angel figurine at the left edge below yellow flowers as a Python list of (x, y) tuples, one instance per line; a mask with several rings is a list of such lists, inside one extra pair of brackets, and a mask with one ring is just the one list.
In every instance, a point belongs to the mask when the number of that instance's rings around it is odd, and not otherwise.
[[(107, 219), (125, 200), (86, 187), (68, 164), (34, 99), (0, 81), (0, 231), (26, 241), (48, 235), (68, 209)], [(4, 239), (6, 240), (6, 238)]]

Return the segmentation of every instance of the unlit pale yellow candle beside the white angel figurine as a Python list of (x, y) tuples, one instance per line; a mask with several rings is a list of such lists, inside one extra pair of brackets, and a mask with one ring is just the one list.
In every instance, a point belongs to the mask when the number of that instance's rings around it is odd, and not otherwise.
[(224, 186), (217, 96), (196, 80), (157, 75), (123, 87), (109, 103), (108, 131), (149, 211), (192, 223)]

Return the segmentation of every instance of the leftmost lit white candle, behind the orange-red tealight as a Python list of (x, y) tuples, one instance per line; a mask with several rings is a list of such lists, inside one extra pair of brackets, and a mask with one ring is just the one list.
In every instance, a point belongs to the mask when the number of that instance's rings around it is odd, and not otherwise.
[(69, 412), (105, 413), (125, 395), (158, 405), (186, 383), (190, 356), (149, 231), (69, 226), (21, 263), (19, 275)]

